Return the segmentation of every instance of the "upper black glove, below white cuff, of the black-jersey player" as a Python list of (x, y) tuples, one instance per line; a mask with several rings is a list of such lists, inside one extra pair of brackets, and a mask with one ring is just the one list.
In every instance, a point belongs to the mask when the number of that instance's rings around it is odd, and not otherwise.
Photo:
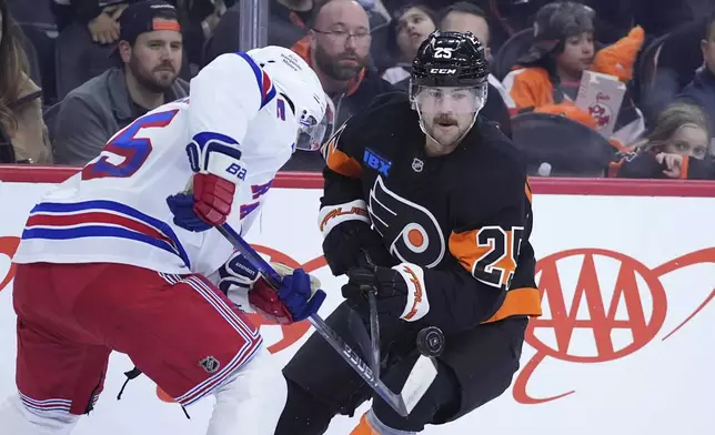
[(365, 252), (372, 263), (393, 266), (397, 261), (382, 243), (382, 236), (361, 221), (348, 221), (336, 225), (323, 241), (323, 253), (331, 272), (335, 276), (358, 267)]

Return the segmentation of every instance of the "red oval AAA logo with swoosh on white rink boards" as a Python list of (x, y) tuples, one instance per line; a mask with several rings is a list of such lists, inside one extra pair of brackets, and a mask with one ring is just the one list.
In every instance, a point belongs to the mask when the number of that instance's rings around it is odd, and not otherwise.
[[(603, 284), (608, 280), (603, 276), (603, 273), (598, 273), (596, 267), (598, 257), (618, 264), (612, 289)], [(572, 292), (564, 292), (566, 290), (564, 276), (560, 271), (573, 271), (573, 269), (560, 270), (558, 264), (568, 260), (582, 263), (577, 271), (575, 289), (570, 289), (573, 290), (573, 300), (567, 305), (565, 294)], [(544, 315), (530, 321), (525, 341), (536, 350), (536, 354), (523, 366), (514, 381), (513, 395), (516, 402), (538, 404), (575, 393), (568, 391), (550, 397), (533, 397), (527, 393), (528, 380), (548, 356), (572, 363), (603, 363), (623, 358), (648, 344), (661, 332), (667, 314), (667, 296), (661, 277), (701, 263), (715, 263), (715, 247), (679, 256), (654, 269), (622, 253), (600, 249), (562, 251), (541, 259), (536, 264), (538, 289), (543, 297), (542, 304), (548, 307), (544, 313), (551, 312), (551, 316)], [(715, 285), (715, 280), (713, 283)], [(687, 289), (681, 291), (687, 291)], [(605, 295), (612, 296), (606, 300)], [(662, 341), (671, 337), (689, 322), (713, 297), (715, 297), (715, 289), (689, 316), (673, 331), (667, 332)], [(551, 336), (555, 337), (555, 345), (547, 345), (540, 340), (537, 336), (540, 330), (551, 332)], [(594, 343), (592, 354), (578, 355), (572, 352), (571, 345), (577, 330), (588, 330), (592, 333)], [(618, 334), (614, 332), (618, 330), (631, 332), (633, 338), (630, 344), (617, 347), (614, 336)]]

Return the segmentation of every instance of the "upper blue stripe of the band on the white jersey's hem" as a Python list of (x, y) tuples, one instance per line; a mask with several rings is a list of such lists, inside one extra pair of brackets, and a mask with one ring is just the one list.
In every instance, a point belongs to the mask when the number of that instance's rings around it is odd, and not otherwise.
[(179, 241), (179, 237), (177, 236), (177, 233), (174, 233), (171, 226), (165, 222), (144, 214), (129, 205), (105, 200), (83, 201), (74, 203), (42, 202), (36, 205), (30, 213), (71, 213), (90, 210), (110, 210), (125, 214), (128, 216), (132, 216), (150, 226), (153, 226), (173, 242), (173, 244), (177, 246), (177, 250), (179, 251), (179, 256), (181, 257), (181, 260), (183, 260), (187, 267), (191, 269), (189, 254), (187, 254), (187, 251), (183, 249), (181, 242)]

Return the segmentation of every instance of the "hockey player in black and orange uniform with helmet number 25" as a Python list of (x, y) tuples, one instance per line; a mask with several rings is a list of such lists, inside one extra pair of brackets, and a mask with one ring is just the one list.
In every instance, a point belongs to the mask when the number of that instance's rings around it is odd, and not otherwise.
[[(440, 327), (446, 346), (407, 417), (372, 397), (353, 434), (419, 433), (500, 396), (518, 368), (528, 317), (541, 315), (525, 166), (479, 117), (484, 48), (471, 33), (435, 32), (412, 67), (409, 95), (376, 102), (325, 144), (319, 225), (331, 271), (349, 279), (326, 321), (359, 350), (351, 322), (366, 322), (364, 289), (376, 292), (382, 380), (395, 392), (420, 356), (421, 328)], [(323, 434), (371, 397), (316, 334), (283, 374), (278, 435)]]

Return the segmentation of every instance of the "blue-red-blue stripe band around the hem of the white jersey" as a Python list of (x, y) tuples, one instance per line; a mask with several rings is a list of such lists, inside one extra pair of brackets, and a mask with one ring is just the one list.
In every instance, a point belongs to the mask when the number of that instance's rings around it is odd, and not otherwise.
[(191, 267), (189, 255), (171, 226), (114, 201), (43, 202), (30, 211), (23, 240), (119, 237), (147, 243), (178, 255)]

